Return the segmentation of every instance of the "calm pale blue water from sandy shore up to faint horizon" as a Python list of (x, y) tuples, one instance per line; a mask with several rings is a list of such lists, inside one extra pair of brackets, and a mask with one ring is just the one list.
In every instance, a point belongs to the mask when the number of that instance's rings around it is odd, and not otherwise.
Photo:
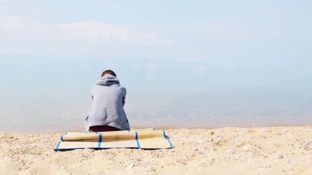
[[(281, 64), (282, 63), (282, 64)], [(0, 58), (0, 132), (83, 130), (105, 69), (132, 127), (312, 124), (311, 59)]]

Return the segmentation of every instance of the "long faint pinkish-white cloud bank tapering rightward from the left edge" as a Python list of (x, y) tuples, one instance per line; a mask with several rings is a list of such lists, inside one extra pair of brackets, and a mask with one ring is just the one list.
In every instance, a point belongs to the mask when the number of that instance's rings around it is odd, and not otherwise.
[[(62, 39), (64, 41), (93, 42), (96, 44), (122, 44), (122, 45), (146, 45), (167, 46), (172, 42), (156, 32), (144, 32), (129, 27), (116, 26), (103, 21), (81, 21), (79, 23), (45, 24), (41, 21), (24, 17), (9, 16), (0, 18), (0, 35), (46, 36)], [(47, 39), (47, 38), (42, 38)], [(31, 39), (31, 38), (30, 38)]]

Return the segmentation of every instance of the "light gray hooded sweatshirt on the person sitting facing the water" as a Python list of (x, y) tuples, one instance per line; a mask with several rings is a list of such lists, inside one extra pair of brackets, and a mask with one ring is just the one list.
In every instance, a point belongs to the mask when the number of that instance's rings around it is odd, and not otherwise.
[(113, 75), (106, 74), (92, 88), (93, 101), (86, 119), (86, 130), (90, 126), (108, 125), (129, 130), (129, 122), (123, 107), (126, 88)]

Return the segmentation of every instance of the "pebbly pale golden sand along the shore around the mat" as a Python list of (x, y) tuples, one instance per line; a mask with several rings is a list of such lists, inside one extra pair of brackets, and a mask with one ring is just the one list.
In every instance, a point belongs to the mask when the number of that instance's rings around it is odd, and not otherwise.
[(311, 174), (312, 126), (167, 129), (172, 149), (57, 151), (62, 133), (0, 133), (0, 174)]

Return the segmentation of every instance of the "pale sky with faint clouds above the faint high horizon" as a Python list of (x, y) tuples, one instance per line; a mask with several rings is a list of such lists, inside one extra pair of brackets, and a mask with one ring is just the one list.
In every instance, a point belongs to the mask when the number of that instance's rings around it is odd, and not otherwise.
[(310, 1), (0, 3), (0, 53), (6, 55), (179, 61), (311, 56)]

